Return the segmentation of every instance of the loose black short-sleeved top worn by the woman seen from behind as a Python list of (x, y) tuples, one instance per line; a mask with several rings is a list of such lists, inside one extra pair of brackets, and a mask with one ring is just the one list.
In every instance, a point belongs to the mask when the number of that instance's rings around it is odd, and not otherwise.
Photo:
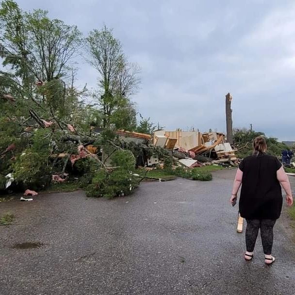
[(266, 154), (246, 157), (239, 165), (243, 171), (239, 210), (246, 219), (278, 219), (282, 209), (282, 191), (276, 157)]

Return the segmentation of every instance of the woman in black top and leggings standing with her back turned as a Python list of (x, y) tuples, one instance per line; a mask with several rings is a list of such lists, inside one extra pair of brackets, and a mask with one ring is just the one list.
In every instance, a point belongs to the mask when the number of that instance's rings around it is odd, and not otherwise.
[(273, 228), (282, 208), (281, 186), (286, 192), (286, 202), (292, 206), (291, 186), (282, 164), (276, 157), (266, 155), (266, 140), (258, 136), (253, 141), (253, 155), (246, 157), (239, 165), (233, 183), (230, 202), (236, 201), (242, 184), (239, 210), (246, 218), (247, 261), (253, 258), (253, 251), (260, 229), (265, 263), (272, 264)]

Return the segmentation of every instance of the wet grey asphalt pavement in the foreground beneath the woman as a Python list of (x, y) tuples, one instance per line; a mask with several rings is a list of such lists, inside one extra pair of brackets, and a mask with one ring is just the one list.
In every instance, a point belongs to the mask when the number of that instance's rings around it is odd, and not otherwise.
[(143, 183), (113, 200), (79, 191), (0, 203), (0, 215), (16, 214), (0, 227), (0, 295), (294, 295), (290, 220), (275, 227), (272, 266), (260, 240), (245, 262), (233, 176)]

